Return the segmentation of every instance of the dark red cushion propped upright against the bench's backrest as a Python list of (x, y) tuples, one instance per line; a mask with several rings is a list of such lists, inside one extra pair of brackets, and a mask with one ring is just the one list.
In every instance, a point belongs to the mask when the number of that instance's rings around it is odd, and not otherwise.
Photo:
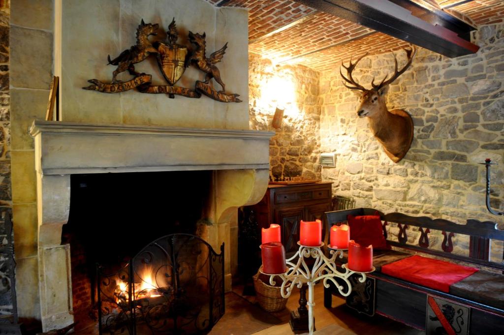
[(390, 249), (383, 236), (382, 220), (379, 215), (347, 216), (350, 239), (360, 245), (372, 244), (373, 249)]

